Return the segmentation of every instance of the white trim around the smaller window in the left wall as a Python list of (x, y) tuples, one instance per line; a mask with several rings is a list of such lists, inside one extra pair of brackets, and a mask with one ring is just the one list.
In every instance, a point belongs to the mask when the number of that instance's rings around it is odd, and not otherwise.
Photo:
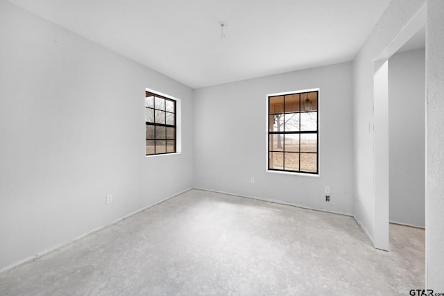
[[(164, 94), (162, 92), (157, 92), (154, 89), (149, 89), (148, 87), (145, 88), (145, 97), (144, 97), (144, 118), (145, 118), (145, 98), (146, 98), (146, 92), (150, 92), (151, 94), (154, 94), (155, 96), (159, 96), (161, 98), (167, 99), (167, 100), (172, 100), (175, 101), (175, 106), (176, 106), (176, 110), (175, 110), (175, 125), (176, 125), (176, 152), (169, 152), (169, 153), (158, 153), (158, 154), (146, 154), (146, 137), (145, 137), (145, 157), (162, 157), (162, 156), (166, 156), (166, 155), (178, 155), (178, 154), (182, 154), (182, 104), (181, 104), (181, 100), (180, 98), (176, 98), (174, 96), (169, 96), (168, 94)], [(145, 126), (146, 126), (146, 119), (145, 119)], [(156, 125), (154, 125), (156, 126)], [(145, 128), (145, 136), (146, 136), (146, 128)], [(167, 141), (167, 140), (165, 140)]]

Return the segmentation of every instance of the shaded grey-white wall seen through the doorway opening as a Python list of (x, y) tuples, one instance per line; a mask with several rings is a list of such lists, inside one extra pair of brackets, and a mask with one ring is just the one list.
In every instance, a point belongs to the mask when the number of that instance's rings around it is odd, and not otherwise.
[(425, 227), (425, 49), (388, 60), (390, 221)]

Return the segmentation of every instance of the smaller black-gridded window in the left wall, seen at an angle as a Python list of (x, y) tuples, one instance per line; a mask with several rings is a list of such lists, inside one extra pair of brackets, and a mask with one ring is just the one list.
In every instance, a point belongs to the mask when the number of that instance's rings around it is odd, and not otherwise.
[(145, 95), (146, 155), (176, 153), (176, 101)]

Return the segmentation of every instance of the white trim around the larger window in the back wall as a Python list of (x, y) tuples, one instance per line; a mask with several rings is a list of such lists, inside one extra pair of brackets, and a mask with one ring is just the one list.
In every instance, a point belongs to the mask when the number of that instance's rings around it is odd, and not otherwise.
[[(289, 94), (304, 94), (307, 92), (317, 92), (318, 93), (318, 98), (317, 98), (317, 130), (316, 130), (316, 135), (317, 135), (317, 153), (316, 153), (316, 166), (317, 166), (317, 172), (316, 173), (311, 173), (311, 172), (305, 172), (305, 171), (289, 171), (289, 170), (278, 170), (278, 169), (273, 169), (273, 168), (269, 168), (269, 153), (270, 153), (270, 148), (269, 148), (269, 139), (270, 139), (270, 110), (269, 110), (269, 100), (270, 97), (273, 96), (284, 96), (284, 95), (289, 95)], [(277, 174), (282, 174), (282, 175), (298, 175), (298, 176), (304, 176), (304, 177), (321, 177), (321, 164), (319, 163), (319, 159), (321, 158), (321, 132), (319, 131), (319, 126), (320, 126), (320, 114), (321, 114), (321, 103), (320, 103), (320, 96), (321, 96), (321, 90), (319, 88), (314, 88), (314, 89), (300, 89), (300, 90), (296, 90), (296, 91), (290, 91), (290, 92), (279, 92), (279, 93), (273, 93), (273, 94), (267, 94), (266, 95), (266, 132), (265, 132), (265, 140), (266, 140), (266, 172), (267, 173), (277, 173)], [(304, 134), (306, 132), (297, 132), (297, 134)], [(299, 152), (300, 153), (300, 152)]]

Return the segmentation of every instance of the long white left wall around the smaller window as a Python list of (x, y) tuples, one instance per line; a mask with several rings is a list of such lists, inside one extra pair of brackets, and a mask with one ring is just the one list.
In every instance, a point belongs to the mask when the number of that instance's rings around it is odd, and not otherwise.
[[(144, 156), (145, 87), (182, 99), (181, 155)], [(0, 270), (193, 186), (192, 95), (0, 0)]]

